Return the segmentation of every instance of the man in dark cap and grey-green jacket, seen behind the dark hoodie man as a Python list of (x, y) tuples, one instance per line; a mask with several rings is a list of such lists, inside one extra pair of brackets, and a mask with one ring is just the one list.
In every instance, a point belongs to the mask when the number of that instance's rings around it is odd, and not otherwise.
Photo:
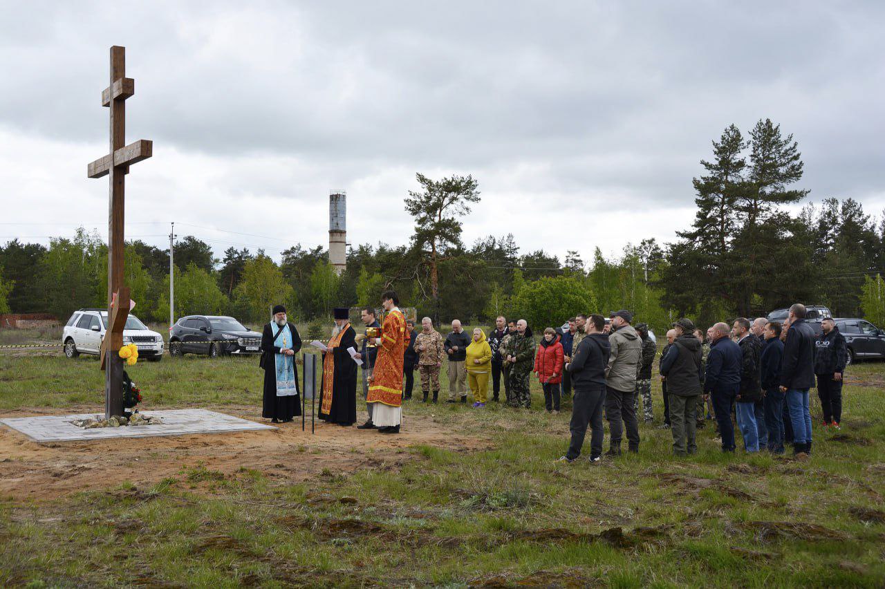
[(639, 424), (636, 422), (636, 374), (642, 362), (643, 344), (639, 334), (630, 325), (633, 313), (619, 310), (612, 313), (612, 333), (609, 335), (609, 361), (605, 369), (605, 418), (611, 436), (606, 455), (620, 455), (623, 435), (621, 421), (627, 427), (627, 450), (639, 452)]

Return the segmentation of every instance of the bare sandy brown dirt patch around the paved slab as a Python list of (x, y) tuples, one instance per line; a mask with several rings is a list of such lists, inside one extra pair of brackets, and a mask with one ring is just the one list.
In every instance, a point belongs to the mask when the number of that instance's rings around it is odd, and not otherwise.
[[(101, 409), (19, 409), (5, 412), (3, 417), (96, 411)], [(266, 421), (256, 417), (254, 407), (226, 407), (221, 412)], [(418, 416), (407, 416), (402, 433), (392, 436), (323, 422), (316, 425), (316, 433), (312, 434), (310, 424), (302, 432), (299, 421), (281, 424), (274, 431), (41, 445), (19, 432), (0, 427), (0, 496), (42, 501), (81, 491), (104, 490), (125, 481), (144, 487), (164, 478), (180, 477), (191, 469), (199, 469), (197, 474), (219, 473), (227, 477), (245, 468), (259, 470), (279, 482), (300, 483), (329, 472), (348, 474), (369, 467), (398, 469), (412, 459), (408, 448), (416, 445), (469, 452), (488, 444), (473, 434), (452, 432), (429, 417)]]

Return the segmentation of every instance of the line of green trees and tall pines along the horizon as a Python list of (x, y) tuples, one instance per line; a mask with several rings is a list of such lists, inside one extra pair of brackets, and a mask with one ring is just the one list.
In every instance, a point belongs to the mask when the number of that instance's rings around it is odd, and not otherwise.
[[(278, 263), (262, 249), (228, 248), (218, 258), (189, 235), (174, 249), (174, 316), (263, 322), (283, 302), (309, 321), (335, 306), (375, 304), (383, 289), (394, 288), (420, 316), (472, 325), (504, 315), (537, 328), (579, 312), (627, 308), (636, 321), (664, 330), (675, 317), (712, 325), (797, 301), (826, 304), (837, 316), (866, 312), (881, 325), (885, 218), (835, 197), (791, 213), (808, 195), (797, 187), (804, 164), (792, 135), (769, 119), (746, 139), (730, 125), (701, 165), (704, 174), (692, 181), (696, 215), (676, 241), (643, 240), (608, 257), (596, 248), (587, 263), (576, 251), (562, 261), (543, 249), (521, 253), (512, 234), (466, 245), (462, 219), (481, 198), (469, 175), (417, 174), (419, 190), (405, 199), (415, 221), (411, 241), (351, 248), (340, 276), (321, 246), (294, 244)], [(126, 244), (126, 284), (143, 319), (168, 320), (168, 256), (143, 241)], [(0, 312), (64, 319), (81, 307), (104, 307), (106, 262), (104, 241), (82, 228), (48, 247), (9, 241), (0, 248)]]

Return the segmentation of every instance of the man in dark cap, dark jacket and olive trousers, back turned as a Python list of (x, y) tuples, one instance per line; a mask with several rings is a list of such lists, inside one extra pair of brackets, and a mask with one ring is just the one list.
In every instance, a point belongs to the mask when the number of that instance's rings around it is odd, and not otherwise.
[(666, 377), (670, 397), (670, 431), (673, 454), (685, 456), (697, 452), (695, 442), (697, 401), (701, 396), (701, 342), (695, 337), (695, 324), (681, 318), (673, 324), (676, 338), (661, 358), (660, 372)]

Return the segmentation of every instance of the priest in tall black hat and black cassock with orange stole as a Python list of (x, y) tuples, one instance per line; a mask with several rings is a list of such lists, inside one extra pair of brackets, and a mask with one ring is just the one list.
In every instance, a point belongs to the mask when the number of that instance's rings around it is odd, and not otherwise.
[(357, 333), (350, 326), (350, 310), (335, 309), (335, 332), (323, 352), (323, 379), (319, 388), (319, 418), (349, 426), (357, 421), (357, 363), (348, 348), (357, 350)]

